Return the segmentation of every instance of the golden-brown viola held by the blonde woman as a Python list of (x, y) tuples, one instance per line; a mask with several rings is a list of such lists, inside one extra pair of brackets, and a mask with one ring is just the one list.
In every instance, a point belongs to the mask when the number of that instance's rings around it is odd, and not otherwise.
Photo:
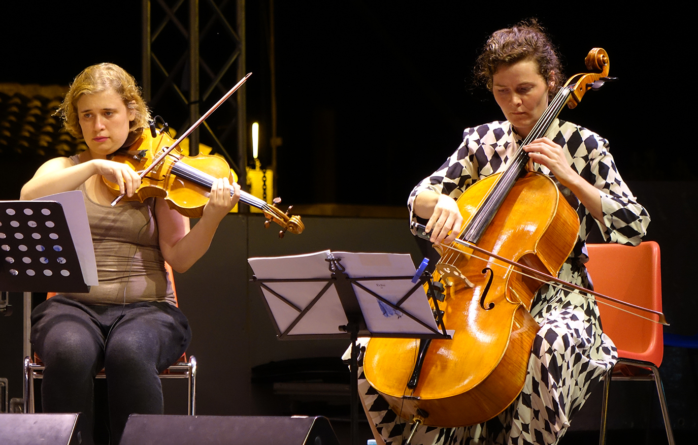
[[(200, 218), (204, 206), (208, 203), (214, 181), (221, 177), (228, 177), (230, 182), (233, 181), (230, 166), (220, 156), (201, 153), (197, 156), (185, 156), (179, 147), (168, 152), (161, 161), (152, 166), (174, 143), (175, 140), (165, 131), (158, 130), (156, 136), (152, 136), (151, 131), (146, 130), (130, 147), (119, 149), (112, 154), (112, 161), (125, 163), (137, 172), (147, 171), (141, 177), (140, 187), (133, 196), (124, 196), (123, 199), (143, 202), (150, 196), (165, 198), (170, 208), (185, 217)], [(103, 180), (114, 196), (121, 196), (119, 184), (104, 177)], [(232, 195), (232, 191), (230, 193)], [(279, 224), (282, 227), (279, 238), (283, 238), (286, 231), (299, 234), (304, 229), (300, 217), (289, 216), (292, 207), (282, 212), (275, 205), (268, 204), (245, 191), (240, 191), (240, 202), (262, 210), (267, 217), (266, 227), (269, 227), (270, 221)], [(280, 198), (274, 199), (275, 204), (280, 202)]]

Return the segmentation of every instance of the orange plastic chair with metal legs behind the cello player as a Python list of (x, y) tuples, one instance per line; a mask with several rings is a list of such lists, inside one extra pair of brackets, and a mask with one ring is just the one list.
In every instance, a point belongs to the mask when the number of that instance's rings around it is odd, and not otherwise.
[[(586, 263), (586, 268), (595, 291), (637, 306), (662, 311), (660, 249), (656, 242), (642, 242), (637, 247), (590, 244), (587, 249), (589, 262)], [(611, 380), (652, 380), (657, 386), (667, 439), (670, 445), (674, 445), (667, 400), (658, 369), (664, 355), (662, 325), (605, 305), (602, 300), (598, 302), (604, 333), (618, 349), (618, 363), (604, 377), (599, 444), (606, 443), (606, 414)], [(647, 316), (643, 312), (630, 310)]]

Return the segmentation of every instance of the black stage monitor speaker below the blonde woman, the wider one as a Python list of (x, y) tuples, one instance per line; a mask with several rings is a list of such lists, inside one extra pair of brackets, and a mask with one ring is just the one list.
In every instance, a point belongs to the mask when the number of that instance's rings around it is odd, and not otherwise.
[(119, 445), (339, 445), (325, 417), (132, 414)]

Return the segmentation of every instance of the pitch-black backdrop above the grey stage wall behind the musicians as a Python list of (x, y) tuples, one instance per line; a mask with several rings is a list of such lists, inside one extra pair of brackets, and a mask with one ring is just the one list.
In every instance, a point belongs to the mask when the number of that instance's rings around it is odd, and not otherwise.
[[(8, 3), (0, 82), (67, 85), (101, 61), (140, 80), (140, 1)], [(271, 162), (267, 5), (248, 1), (246, 21), (247, 71), (254, 73), (245, 86), (248, 121), (261, 122), (263, 166)], [(610, 75), (619, 81), (561, 117), (608, 138), (625, 180), (696, 180), (681, 154), (690, 149), (695, 116), (688, 16), (674, 8), (580, 6), (583, 13), (575, 8), (568, 17), (572, 10), (276, 1), (279, 194), (292, 203), (403, 205), (458, 146), (463, 128), (502, 119), (489, 92), (473, 87), (473, 63), (492, 31), (526, 17), (547, 27), (567, 75), (586, 69), (591, 48), (609, 52)], [(234, 23), (234, 3), (223, 11)], [(181, 40), (173, 37), (171, 54), (159, 57), (179, 58)], [(202, 54), (228, 57), (223, 40), (209, 34)], [(168, 109), (154, 112), (172, 119)]]

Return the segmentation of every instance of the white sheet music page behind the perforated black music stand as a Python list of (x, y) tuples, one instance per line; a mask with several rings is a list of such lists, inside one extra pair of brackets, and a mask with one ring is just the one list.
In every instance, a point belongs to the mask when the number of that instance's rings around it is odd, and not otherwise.
[(97, 262), (94, 257), (94, 247), (92, 246), (92, 233), (89, 230), (89, 220), (87, 210), (82, 198), (82, 191), (71, 190), (63, 193), (43, 196), (35, 201), (56, 201), (63, 206), (66, 215), (70, 237), (73, 238), (77, 258), (80, 261), (82, 277), (87, 286), (98, 286)]

